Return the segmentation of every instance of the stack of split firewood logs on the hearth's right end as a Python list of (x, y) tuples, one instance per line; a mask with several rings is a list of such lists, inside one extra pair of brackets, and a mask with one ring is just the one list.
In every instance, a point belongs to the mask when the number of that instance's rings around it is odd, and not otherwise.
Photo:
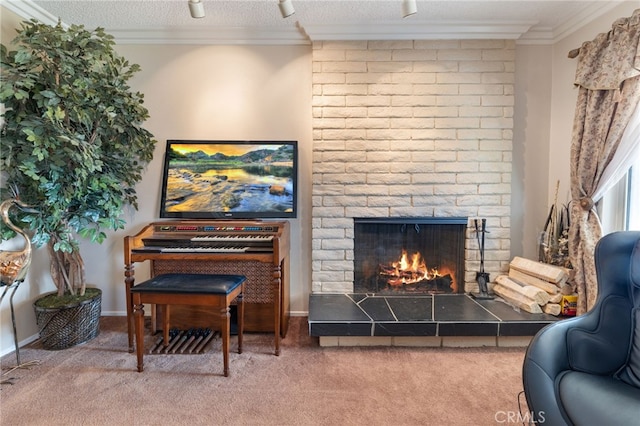
[(558, 316), (563, 296), (573, 294), (568, 280), (566, 268), (516, 256), (509, 274), (496, 278), (493, 292), (523, 311)]

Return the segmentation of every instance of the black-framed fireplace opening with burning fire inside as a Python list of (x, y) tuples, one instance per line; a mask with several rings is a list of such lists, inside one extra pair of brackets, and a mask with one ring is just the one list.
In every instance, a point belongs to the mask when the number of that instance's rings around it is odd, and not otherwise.
[(355, 218), (354, 292), (464, 293), (467, 218)]

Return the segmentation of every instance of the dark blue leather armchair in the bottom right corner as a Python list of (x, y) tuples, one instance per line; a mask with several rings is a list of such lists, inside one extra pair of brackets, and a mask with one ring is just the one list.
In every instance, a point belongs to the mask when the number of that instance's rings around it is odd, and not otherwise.
[(640, 232), (596, 246), (598, 298), (531, 340), (522, 379), (544, 425), (640, 425)]

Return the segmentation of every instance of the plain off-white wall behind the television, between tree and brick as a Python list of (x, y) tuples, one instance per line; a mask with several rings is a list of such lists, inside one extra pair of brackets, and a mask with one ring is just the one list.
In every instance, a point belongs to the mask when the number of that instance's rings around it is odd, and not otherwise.
[[(119, 46), (142, 71), (132, 80), (145, 94), (146, 128), (158, 140), (153, 162), (138, 186), (140, 211), (106, 247), (83, 245), (89, 274), (108, 277), (104, 313), (125, 310), (122, 237), (158, 219), (167, 139), (297, 140), (298, 218), (291, 220), (291, 310), (306, 312), (310, 281), (311, 47)], [(105, 262), (104, 259), (108, 259)], [(136, 278), (148, 274), (138, 266)], [(89, 270), (89, 267), (87, 268)], [(100, 284), (104, 287), (105, 284)]]

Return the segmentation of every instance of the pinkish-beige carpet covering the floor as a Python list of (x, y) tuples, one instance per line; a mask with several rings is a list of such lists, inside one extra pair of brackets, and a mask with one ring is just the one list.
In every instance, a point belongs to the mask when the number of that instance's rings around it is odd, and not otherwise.
[(279, 357), (271, 335), (247, 334), (225, 378), (219, 339), (205, 354), (147, 355), (138, 373), (125, 319), (101, 330), (63, 351), (23, 348), (23, 363), (40, 361), (29, 369), (3, 357), (0, 424), (495, 425), (524, 404), (521, 348), (321, 348), (292, 318)]

